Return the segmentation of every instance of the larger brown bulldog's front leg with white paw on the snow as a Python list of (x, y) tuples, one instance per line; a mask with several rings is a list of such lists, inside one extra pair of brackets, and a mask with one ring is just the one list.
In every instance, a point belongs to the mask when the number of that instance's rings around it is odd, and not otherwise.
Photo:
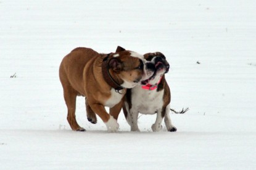
[(119, 125), (117, 123), (117, 120), (115, 120), (115, 118), (112, 117), (112, 115), (109, 115), (106, 112), (105, 107), (102, 104), (89, 104), (89, 106), (91, 106), (91, 109), (93, 109), (93, 111), (97, 115), (99, 115), (99, 117), (105, 123), (105, 125), (107, 126), (107, 131), (109, 132), (118, 131)]

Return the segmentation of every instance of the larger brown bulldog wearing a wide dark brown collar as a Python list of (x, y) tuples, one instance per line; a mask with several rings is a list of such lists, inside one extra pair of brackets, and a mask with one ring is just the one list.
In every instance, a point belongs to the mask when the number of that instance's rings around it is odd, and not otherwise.
[[(78, 47), (60, 63), (59, 77), (67, 104), (67, 120), (75, 131), (85, 131), (76, 122), (76, 96), (86, 97), (88, 120), (97, 122), (96, 114), (110, 132), (118, 131), (117, 118), (126, 88), (133, 88), (154, 74), (154, 64), (143, 55), (117, 47), (115, 53), (97, 53)], [(110, 107), (110, 115), (105, 106)]]

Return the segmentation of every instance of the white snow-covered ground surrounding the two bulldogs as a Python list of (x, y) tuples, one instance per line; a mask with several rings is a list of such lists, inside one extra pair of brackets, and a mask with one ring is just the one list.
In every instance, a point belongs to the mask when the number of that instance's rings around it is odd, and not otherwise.
[[(256, 169), (256, 1), (0, 0), (0, 169)], [(59, 82), (75, 47), (160, 51), (178, 128), (107, 133), (76, 115), (71, 131)], [(200, 64), (197, 64), (197, 61)], [(16, 73), (16, 74), (15, 74)], [(16, 75), (10, 78), (11, 75)]]

